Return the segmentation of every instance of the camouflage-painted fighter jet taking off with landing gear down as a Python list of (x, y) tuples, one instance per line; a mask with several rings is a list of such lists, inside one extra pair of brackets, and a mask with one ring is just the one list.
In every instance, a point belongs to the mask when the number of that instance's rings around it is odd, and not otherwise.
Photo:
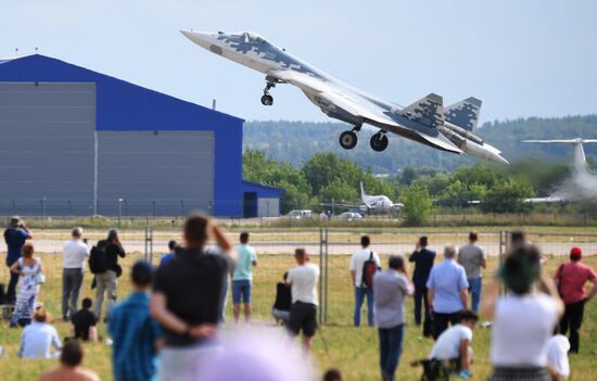
[(278, 84), (298, 87), (321, 111), (353, 125), (340, 135), (340, 145), (353, 149), (364, 124), (379, 128), (370, 145), (381, 152), (388, 148), (386, 134), (397, 134), (434, 149), (462, 153), (501, 163), (500, 151), (472, 131), (479, 119), (481, 101), (468, 98), (446, 107), (442, 97), (430, 93), (404, 107), (357, 90), (293, 56), (262, 36), (251, 33), (205, 33), (180, 30), (187, 38), (211, 52), (265, 74), (262, 103), (272, 105), (270, 90)]

